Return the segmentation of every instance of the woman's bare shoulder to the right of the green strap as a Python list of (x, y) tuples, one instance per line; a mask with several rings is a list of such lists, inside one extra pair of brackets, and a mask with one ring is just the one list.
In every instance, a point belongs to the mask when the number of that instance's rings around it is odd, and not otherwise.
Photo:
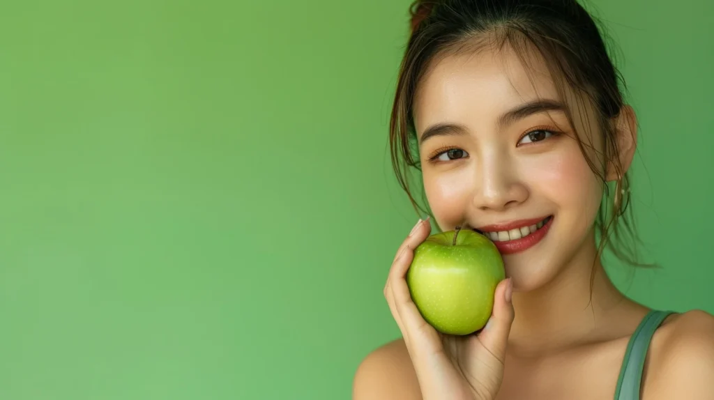
[(655, 334), (643, 399), (714, 399), (714, 317), (693, 310)]

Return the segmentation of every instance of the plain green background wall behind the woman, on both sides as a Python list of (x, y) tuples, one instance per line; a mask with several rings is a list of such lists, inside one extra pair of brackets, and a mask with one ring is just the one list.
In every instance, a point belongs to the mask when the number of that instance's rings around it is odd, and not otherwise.
[[(348, 399), (417, 215), (388, 112), (409, 1), (3, 1), (0, 399)], [(594, 3), (657, 272), (714, 312), (709, 0)]]

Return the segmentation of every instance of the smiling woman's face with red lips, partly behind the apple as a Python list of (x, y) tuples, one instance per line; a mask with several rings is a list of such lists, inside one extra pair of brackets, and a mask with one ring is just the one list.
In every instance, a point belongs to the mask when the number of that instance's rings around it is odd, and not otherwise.
[[(583, 254), (594, 255), (593, 223), (603, 193), (545, 64), (533, 60), (533, 66), (529, 76), (509, 48), (449, 56), (424, 76), (414, 103), (436, 223), (489, 235), (520, 291), (550, 282)], [(585, 112), (590, 118), (581, 118)], [(593, 121), (576, 128), (597, 163), (602, 140), (594, 116), (591, 108), (573, 109), (573, 120)], [(593, 140), (583, 132), (592, 132)]]

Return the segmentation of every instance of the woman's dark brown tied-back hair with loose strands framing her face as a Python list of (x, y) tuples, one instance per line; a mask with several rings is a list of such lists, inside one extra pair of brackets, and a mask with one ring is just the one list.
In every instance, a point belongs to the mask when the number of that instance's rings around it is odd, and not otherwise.
[[(397, 180), (420, 215), (429, 210), (416, 201), (408, 177), (410, 170), (421, 173), (418, 145), (413, 122), (413, 101), (420, 79), (437, 57), (448, 53), (476, 51), (484, 45), (502, 47), (508, 43), (528, 63), (528, 51), (538, 51), (545, 59), (556, 87), (563, 98), (566, 87), (575, 93), (575, 101), (585, 104), (595, 116), (604, 152), (588, 156), (592, 133), (575, 135), (590, 168), (603, 180), (605, 199), (600, 205), (596, 230), (602, 254), (605, 245), (625, 262), (637, 261), (637, 236), (632, 221), (628, 174), (618, 157), (615, 118), (625, 106), (625, 83), (610, 59), (604, 33), (576, 0), (441, 0), (414, 1), (410, 9), (411, 36), (400, 66), (394, 98), (389, 139), (391, 160)], [(572, 108), (566, 104), (566, 115), (573, 123)], [(589, 123), (583, 123), (586, 128)], [(590, 142), (583, 141), (590, 138)], [(600, 165), (596, 163), (600, 163)], [(605, 181), (605, 164), (620, 177), (614, 183)], [(614, 189), (614, 190), (613, 190)], [(423, 198), (423, 200), (426, 200)], [(428, 203), (425, 201), (425, 204)], [(629, 213), (628, 213), (629, 210)]]

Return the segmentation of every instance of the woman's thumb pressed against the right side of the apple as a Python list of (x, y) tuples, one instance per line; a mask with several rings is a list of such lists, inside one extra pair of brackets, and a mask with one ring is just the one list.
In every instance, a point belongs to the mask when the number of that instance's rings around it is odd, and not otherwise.
[(478, 339), (491, 354), (496, 356), (501, 362), (506, 358), (506, 346), (508, 344), (508, 334), (511, 332), (513, 324), (513, 283), (511, 278), (498, 282), (493, 299), (493, 312), (491, 319), (488, 319), (486, 327), (478, 334)]

